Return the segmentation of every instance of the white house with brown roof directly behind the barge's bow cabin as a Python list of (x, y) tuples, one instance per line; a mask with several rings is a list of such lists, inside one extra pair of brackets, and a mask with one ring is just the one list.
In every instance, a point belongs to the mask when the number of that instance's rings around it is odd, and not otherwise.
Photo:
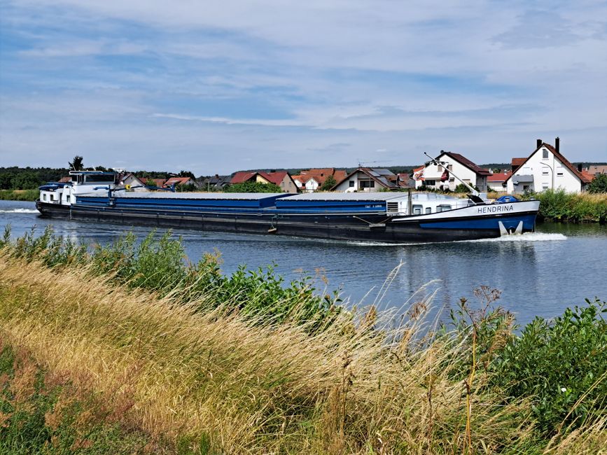
[(491, 175), (488, 169), (478, 167), (459, 153), (441, 151), (436, 160), (445, 162), (446, 167), (427, 162), (423, 169), (423, 179), (420, 176), (415, 181), (415, 188), (426, 186), (436, 190), (453, 191), (461, 183), (452, 176), (454, 173), (468, 185), (477, 187), (481, 193), (487, 192), (487, 177)]

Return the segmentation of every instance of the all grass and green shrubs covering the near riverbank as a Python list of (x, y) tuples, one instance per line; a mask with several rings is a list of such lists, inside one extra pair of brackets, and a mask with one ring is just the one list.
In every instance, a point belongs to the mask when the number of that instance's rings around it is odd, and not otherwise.
[(178, 239), (0, 240), (0, 452), (597, 454), (607, 304), (517, 331), (475, 290), (442, 324), (338, 305)]

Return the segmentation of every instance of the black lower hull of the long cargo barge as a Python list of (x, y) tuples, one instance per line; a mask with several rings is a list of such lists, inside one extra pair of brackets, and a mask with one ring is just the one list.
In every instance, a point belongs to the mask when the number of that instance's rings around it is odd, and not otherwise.
[(421, 228), (419, 222), (391, 223), (385, 214), (246, 214), (192, 211), (67, 207), (36, 201), (41, 216), (71, 220), (186, 228), (263, 235), (287, 235), (316, 239), (426, 243), (499, 237), (496, 229)]

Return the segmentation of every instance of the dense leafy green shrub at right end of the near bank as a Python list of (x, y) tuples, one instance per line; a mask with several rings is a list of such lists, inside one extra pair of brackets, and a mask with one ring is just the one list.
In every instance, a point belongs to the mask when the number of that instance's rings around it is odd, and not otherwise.
[(552, 322), (535, 318), (494, 363), (496, 384), (512, 397), (532, 397), (538, 427), (549, 435), (601, 416), (607, 405), (607, 304), (587, 303)]

